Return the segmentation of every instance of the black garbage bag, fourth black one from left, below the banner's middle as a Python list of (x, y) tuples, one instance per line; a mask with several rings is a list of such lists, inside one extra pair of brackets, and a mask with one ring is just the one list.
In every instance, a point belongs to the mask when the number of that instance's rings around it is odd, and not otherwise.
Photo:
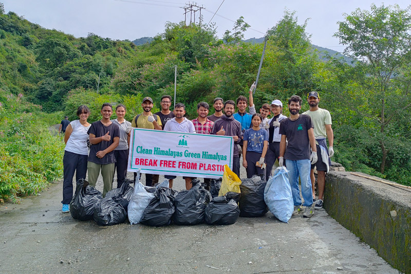
[(180, 191), (174, 199), (176, 212), (173, 221), (177, 225), (191, 226), (204, 222), (204, 212), (212, 197), (200, 180), (194, 179), (192, 184), (190, 190)]

